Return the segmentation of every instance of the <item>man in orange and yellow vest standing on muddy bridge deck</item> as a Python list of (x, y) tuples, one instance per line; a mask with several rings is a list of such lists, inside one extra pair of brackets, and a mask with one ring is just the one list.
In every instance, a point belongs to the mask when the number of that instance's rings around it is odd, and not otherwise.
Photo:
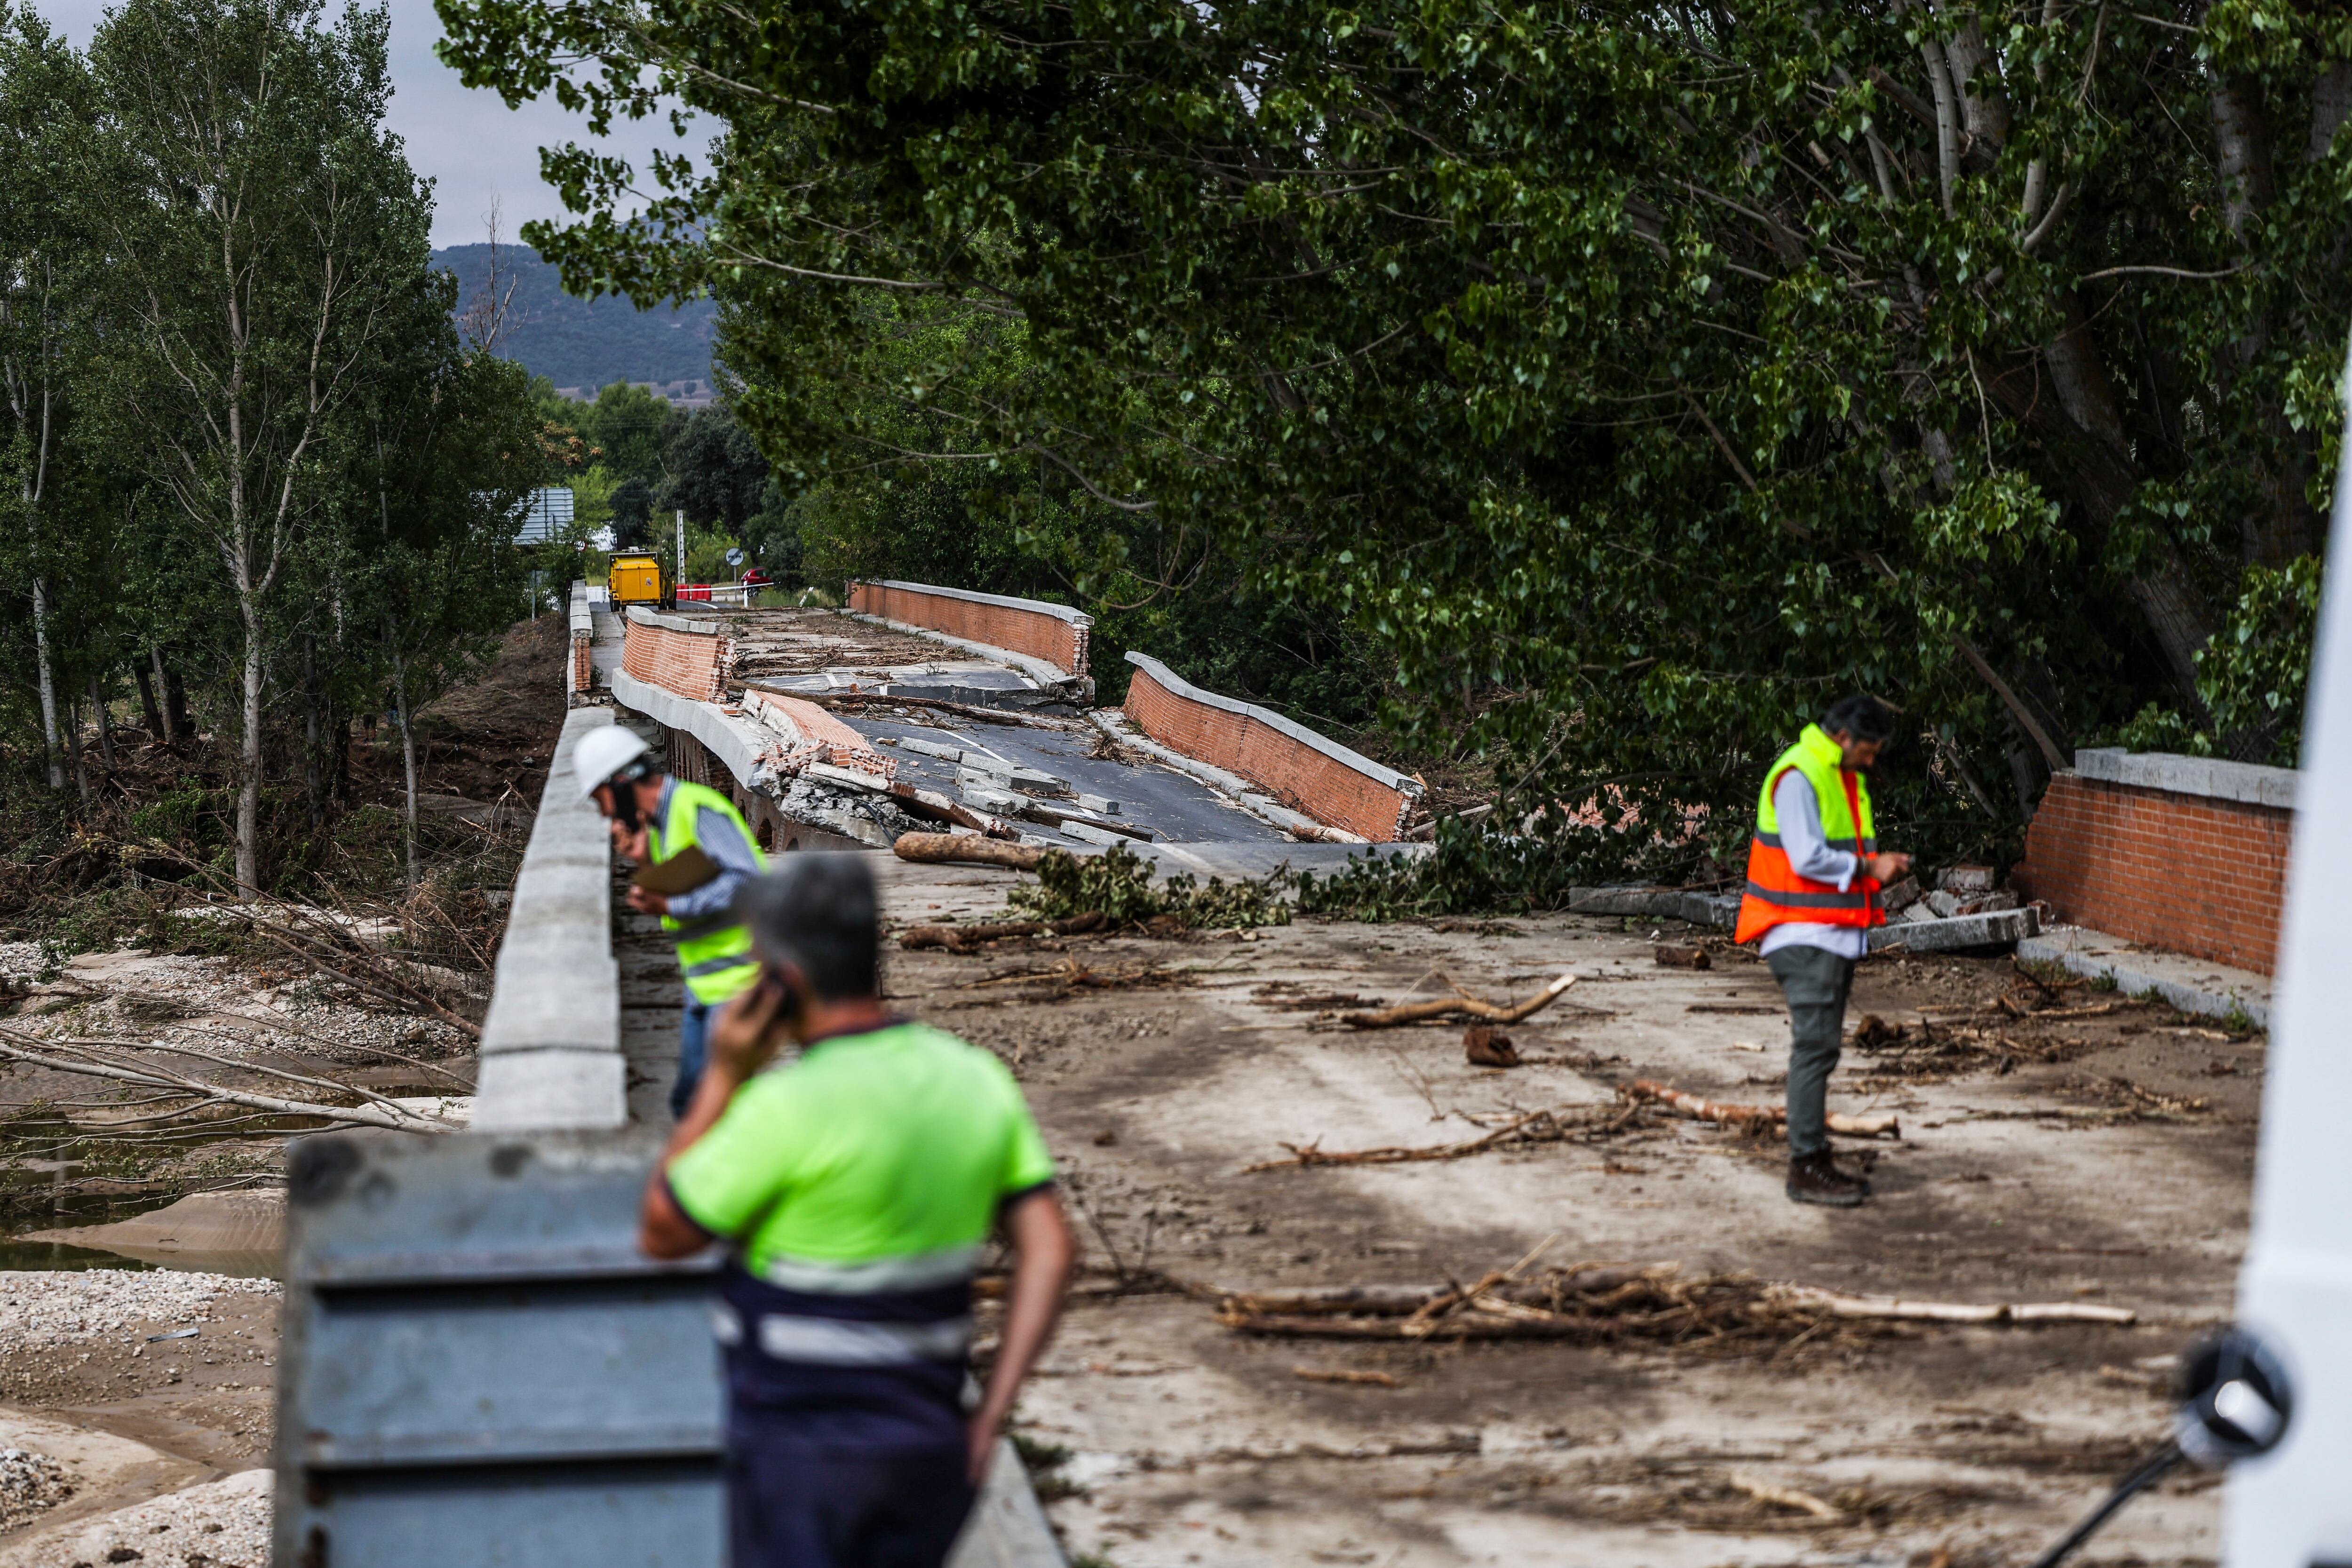
[(1733, 940), (1764, 938), (1764, 964), (1788, 999), (1788, 1197), (1853, 1208), (1870, 1182), (1830, 1159), (1830, 1072), (1846, 1037), (1846, 992), (1884, 926), (1879, 889), (1910, 870), (1882, 853), (1870, 818), (1870, 764), (1893, 736), (1893, 715), (1849, 696), (1764, 776), (1748, 844), (1748, 893)]

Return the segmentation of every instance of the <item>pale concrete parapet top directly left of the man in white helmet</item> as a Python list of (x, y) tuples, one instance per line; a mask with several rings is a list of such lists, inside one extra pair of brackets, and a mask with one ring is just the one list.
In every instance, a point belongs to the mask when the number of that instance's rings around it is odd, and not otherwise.
[(579, 799), (572, 752), (612, 724), (609, 708), (564, 717), (532, 844), (499, 945), (477, 1131), (602, 1128), (628, 1119), (621, 1065), (621, 971), (612, 957), (612, 837)]

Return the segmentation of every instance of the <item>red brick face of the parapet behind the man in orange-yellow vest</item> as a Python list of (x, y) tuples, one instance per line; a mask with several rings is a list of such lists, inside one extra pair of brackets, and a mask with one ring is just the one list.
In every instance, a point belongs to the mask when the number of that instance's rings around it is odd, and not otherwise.
[(2279, 806), (2058, 773), (2013, 882), (2058, 919), (2272, 973), (2293, 827)]

